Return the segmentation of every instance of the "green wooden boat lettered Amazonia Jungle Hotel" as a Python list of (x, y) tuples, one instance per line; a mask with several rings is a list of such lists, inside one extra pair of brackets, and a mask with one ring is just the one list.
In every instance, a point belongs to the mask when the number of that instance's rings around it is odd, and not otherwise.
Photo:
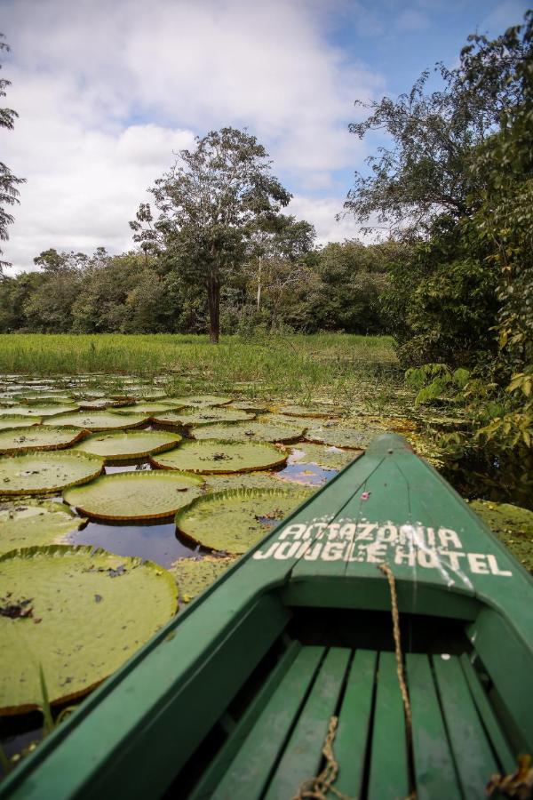
[(532, 585), (442, 477), (381, 436), (102, 684), (0, 796), (290, 800), (325, 765), (322, 790), (349, 797), (485, 797), (533, 751)]

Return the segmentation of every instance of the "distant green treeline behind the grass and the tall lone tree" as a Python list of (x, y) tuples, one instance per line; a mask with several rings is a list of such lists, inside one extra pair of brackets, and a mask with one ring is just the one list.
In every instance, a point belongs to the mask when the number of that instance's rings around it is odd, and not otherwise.
[[(387, 270), (404, 245), (358, 241), (285, 246), (267, 257), (251, 252), (221, 290), (223, 333), (260, 331), (381, 333), (380, 298)], [(285, 243), (286, 244), (286, 243)], [(50, 249), (37, 269), (0, 281), (0, 332), (203, 333), (208, 308), (203, 284), (180, 274), (168, 254), (109, 255)]]

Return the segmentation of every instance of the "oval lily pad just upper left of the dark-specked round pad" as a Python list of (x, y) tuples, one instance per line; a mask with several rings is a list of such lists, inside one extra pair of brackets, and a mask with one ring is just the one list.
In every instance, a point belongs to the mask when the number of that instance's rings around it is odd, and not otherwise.
[[(161, 430), (113, 430), (91, 434), (75, 450), (91, 452), (104, 460), (140, 459), (151, 452), (171, 450), (181, 441), (179, 434)], [(2, 435), (0, 434), (0, 444)]]

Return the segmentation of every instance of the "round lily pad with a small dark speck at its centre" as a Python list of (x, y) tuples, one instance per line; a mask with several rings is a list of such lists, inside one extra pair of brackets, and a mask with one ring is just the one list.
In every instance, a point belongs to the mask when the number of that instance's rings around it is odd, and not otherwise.
[(287, 460), (287, 453), (266, 442), (248, 444), (206, 439), (204, 442), (183, 442), (175, 450), (150, 456), (150, 460), (155, 467), (162, 469), (216, 475), (281, 467)]

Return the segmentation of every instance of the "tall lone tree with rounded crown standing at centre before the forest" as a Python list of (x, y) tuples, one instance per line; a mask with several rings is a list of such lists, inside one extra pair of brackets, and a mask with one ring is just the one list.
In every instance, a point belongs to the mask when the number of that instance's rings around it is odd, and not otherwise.
[(153, 222), (149, 209), (141, 207), (131, 228), (145, 253), (163, 241), (163, 260), (190, 283), (203, 283), (210, 340), (218, 342), (220, 287), (243, 264), (251, 227), (273, 219), (290, 194), (272, 175), (265, 148), (235, 128), (196, 137), (195, 149), (181, 150), (150, 191), (158, 219)]

